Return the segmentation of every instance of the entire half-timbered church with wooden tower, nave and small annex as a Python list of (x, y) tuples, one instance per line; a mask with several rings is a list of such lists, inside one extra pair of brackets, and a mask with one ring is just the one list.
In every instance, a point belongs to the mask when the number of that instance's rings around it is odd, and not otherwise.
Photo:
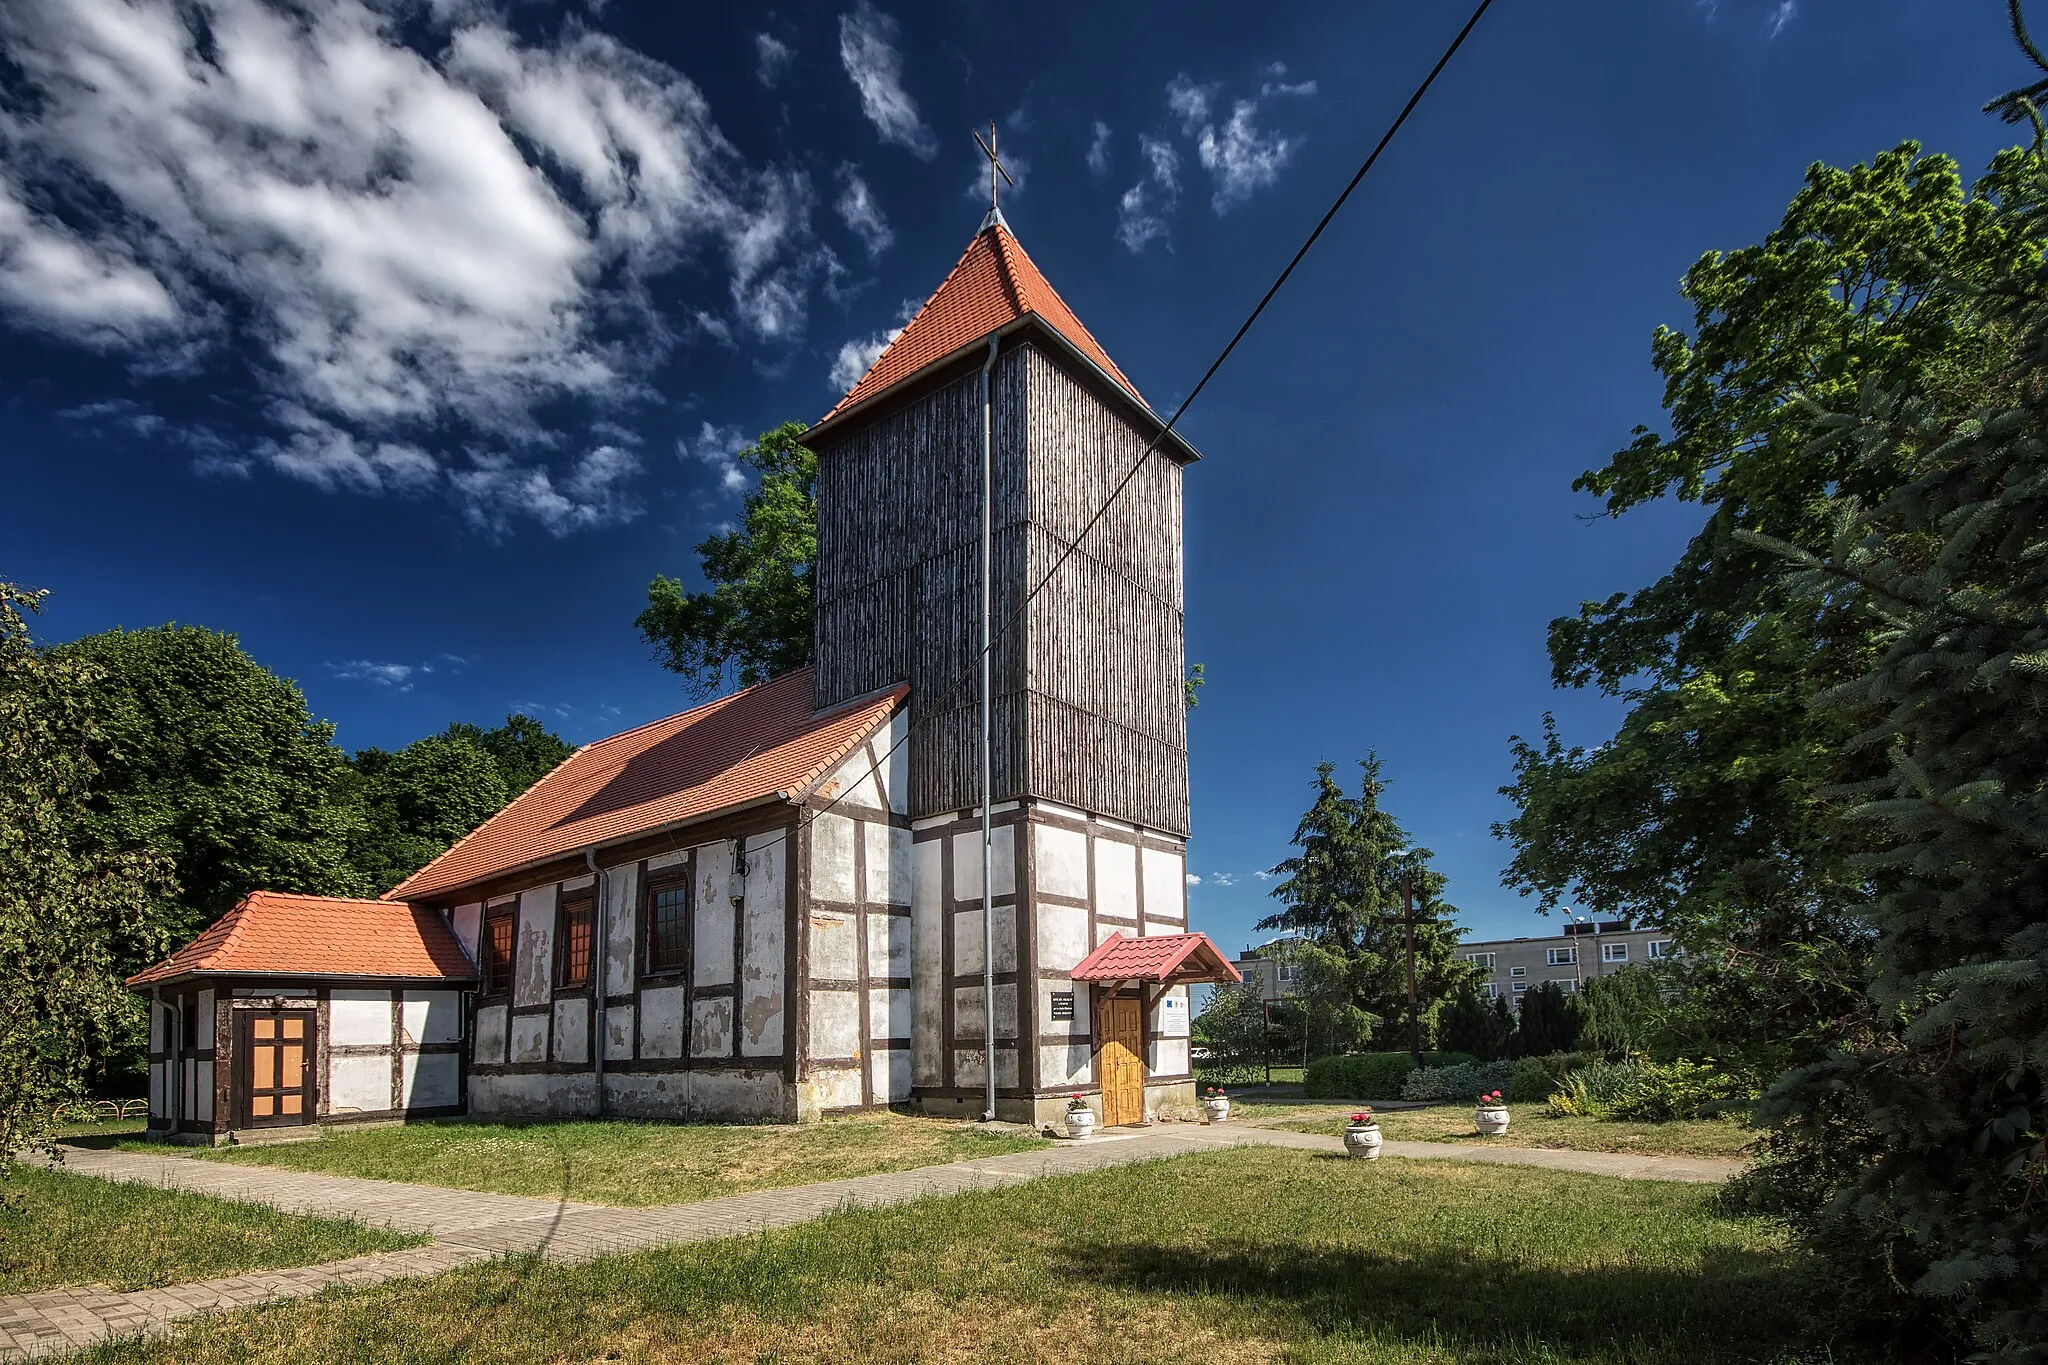
[(1237, 980), (1188, 927), (1194, 448), (999, 209), (805, 442), (813, 665), (584, 745), (379, 900), (246, 896), (129, 982), (152, 1134), (1192, 1107), (1188, 986)]

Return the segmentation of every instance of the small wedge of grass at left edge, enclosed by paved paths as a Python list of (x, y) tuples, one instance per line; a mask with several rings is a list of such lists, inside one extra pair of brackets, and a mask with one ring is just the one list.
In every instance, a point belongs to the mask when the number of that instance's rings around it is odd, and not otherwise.
[(152, 1289), (426, 1240), (63, 1171), (18, 1169), (4, 1189), (18, 1205), (0, 1209), (0, 1293)]

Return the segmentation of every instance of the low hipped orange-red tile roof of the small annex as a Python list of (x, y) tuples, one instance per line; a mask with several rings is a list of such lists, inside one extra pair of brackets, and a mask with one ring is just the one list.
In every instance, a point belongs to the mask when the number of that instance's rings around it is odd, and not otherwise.
[(197, 939), (129, 976), (131, 986), (207, 974), (473, 980), (436, 911), (393, 900), (252, 890)]

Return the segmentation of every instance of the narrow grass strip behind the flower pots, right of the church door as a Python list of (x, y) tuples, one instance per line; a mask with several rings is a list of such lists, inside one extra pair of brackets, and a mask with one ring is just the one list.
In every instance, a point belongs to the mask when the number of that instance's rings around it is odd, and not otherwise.
[[(1268, 1121), (1317, 1134), (1341, 1134), (1343, 1115), (1358, 1105), (1233, 1105), (1233, 1117)], [(1673, 1119), (1669, 1124), (1624, 1124), (1618, 1119), (1552, 1117), (1544, 1105), (1507, 1105), (1507, 1134), (1481, 1138), (1473, 1132), (1470, 1105), (1430, 1109), (1382, 1109), (1380, 1134), (1391, 1142), (1470, 1142), (1475, 1146), (1550, 1146), (1575, 1152), (1630, 1152), (1636, 1156), (1731, 1156), (1755, 1140), (1757, 1130), (1741, 1119)]]

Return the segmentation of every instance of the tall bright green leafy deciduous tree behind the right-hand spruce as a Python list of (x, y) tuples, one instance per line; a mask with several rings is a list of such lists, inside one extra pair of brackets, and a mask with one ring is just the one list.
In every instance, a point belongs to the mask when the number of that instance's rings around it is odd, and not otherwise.
[(1831, 794), (1858, 722), (1806, 702), (1868, 667), (1874, 632), (1792, 602), (1743, 532), (1821, 548), (1831, 497), (1882, 497), (1905, 477), (1898, 460), (1815, 444), (1796, 395), (1913, 383), (1956, 411), (1985, 391), (1995, 346), (1937, 284), (2038, 260), (2038, 225), (2007, 211), (2019, 174), (2003, 153), (1966, 192), (1952, 160), (1915, 143), (1812, 166), (1761, 244), (1686, 272), (1692, 336), (1659, 327), (1651, 344), (1669, 434), (1636, 428), (1575, 485), (1610, 516), (1677, 497), (1706, 522), (1659, 581), (1552, 622), (1554, 681), (1620, 696), (1628, 714), (1591, 751), (1548, 718), (1538, 743), (1516, 741), (1505, 880), (1673, 931), (1694, 970), (1716, 974), (1692, 1007), (1706, 1046), (1767, 1064), (1823, 1054), (1870, 948), (1853, 864), (1868, 833)]

